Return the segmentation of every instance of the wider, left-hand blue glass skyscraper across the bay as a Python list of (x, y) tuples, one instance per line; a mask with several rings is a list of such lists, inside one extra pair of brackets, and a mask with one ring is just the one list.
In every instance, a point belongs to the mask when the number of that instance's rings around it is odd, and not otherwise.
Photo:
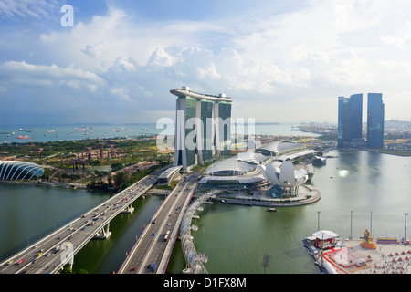
[(338, 98), (338, 147), (363, 137), (363, 94)]

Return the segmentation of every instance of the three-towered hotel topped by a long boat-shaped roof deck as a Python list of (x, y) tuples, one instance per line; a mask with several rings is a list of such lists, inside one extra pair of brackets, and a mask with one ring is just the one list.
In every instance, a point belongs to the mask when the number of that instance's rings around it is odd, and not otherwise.
[(177, 96), (174, 166), (190, 171), (219, 155), (231, 153), (231, 102), (224, 93), (200, 94), (184, 86)]

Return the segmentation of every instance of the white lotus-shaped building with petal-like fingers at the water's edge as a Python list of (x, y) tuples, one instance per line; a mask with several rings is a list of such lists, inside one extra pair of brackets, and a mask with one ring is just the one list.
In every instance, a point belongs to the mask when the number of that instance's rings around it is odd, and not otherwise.
[(296, 196), (300, 185), (309, 178), (304, 169), (294, 170), (294, 165), (289, 159), (259, 165), (259, 170), (269, 182), (282, 188), (284, 197)]

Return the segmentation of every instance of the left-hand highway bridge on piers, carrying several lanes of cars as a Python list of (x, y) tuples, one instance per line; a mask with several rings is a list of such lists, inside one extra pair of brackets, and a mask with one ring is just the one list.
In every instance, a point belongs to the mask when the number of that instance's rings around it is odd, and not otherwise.
[(111, 235), (110, 222), (118, 214), (132, 212), (132, 203), (146, 193), (164, 169), (112, 196), (109, 200), (65, 224), (0, 263), (0, 274), (56, 274), (91, 239)]

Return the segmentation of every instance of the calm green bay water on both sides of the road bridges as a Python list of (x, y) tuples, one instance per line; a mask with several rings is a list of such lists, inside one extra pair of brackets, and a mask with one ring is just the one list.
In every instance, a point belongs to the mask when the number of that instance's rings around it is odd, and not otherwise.
[[(313, 184), (321, 200), (300, 207), (266, 208), (215, 203), (204, 205), (195, 236), (199, 253), (208, 255), (210, 273), (264, 273), (263, 255), (271, 255), (268, 273), (319, 273), (301, 240), (317, 230), (317, 211), (321, 229), (343, 237), (370, 229), (374, 237), (404, 236), (404, 213), (411, 214), (411, 157), (374, 152), (335, 152), (315, 173)], [(76, 214), (109, 198), (107, 193), (65, 190), (0, 183), (0, 258), (14, 254)], [(75, 258), (75, 270), (91, 273), (117, 271), (132, 248), (135, 236), (161, 203), (160, 197), (138, 200), (133, 214), (122, 214), (111, 223), (107, 241), (92, 241)], [(371, 213), (372, 220), (371, 220)], [(372, 221), (372, 222), (371, 222)], [(408, 226), (409, 218), (408, 218)], [(411, 228), (407, 229), (407, 237)], [(168, 273), (181, 273), (185, 267), (180, 242)]]

